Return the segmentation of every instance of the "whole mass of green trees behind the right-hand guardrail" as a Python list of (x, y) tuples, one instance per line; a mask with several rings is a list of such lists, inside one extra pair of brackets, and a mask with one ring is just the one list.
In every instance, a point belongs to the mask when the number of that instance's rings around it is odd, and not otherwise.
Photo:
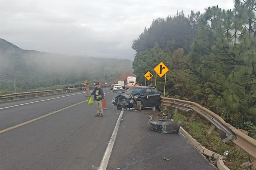
[(162, 61), (170, 70), (166, 97), (196, 102), (256, 139), (256, 3), (236, 0), (230, 8), (154, 19), (133, 41), (133, 69), (145, 82)]

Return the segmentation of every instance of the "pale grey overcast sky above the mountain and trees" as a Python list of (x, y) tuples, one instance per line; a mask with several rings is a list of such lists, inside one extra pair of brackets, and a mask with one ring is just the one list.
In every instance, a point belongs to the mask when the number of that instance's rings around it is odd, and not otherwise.
[(155, 18), (233, 0), (0, 0), (0, 38), (22, 49), (133, 60), (132, 40)]

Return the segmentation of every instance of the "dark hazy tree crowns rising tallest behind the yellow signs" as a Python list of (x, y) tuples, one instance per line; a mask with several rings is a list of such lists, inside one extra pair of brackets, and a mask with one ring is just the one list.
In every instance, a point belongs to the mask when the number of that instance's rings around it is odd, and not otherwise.
[(150, 28), (145, 28), (139, 38), (133, 40), (132, 49), (136, 52), (150, 50), (158, 43), (165, 49), (167, 42), (175, 40), (175, 48), (180, 47), (188, 52), (193, 38), (197, 35), (200, 12), (193, 12), (186, 17), (184, 12), (177, 12), (175, 16), (154, 19)]

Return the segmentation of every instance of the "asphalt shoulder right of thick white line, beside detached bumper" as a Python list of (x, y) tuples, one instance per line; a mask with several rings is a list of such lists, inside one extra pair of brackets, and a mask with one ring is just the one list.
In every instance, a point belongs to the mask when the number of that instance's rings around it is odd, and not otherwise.
[(124, 112), (107, 170), (217, 170), (181, 134), (151, 130), (151, 113)]

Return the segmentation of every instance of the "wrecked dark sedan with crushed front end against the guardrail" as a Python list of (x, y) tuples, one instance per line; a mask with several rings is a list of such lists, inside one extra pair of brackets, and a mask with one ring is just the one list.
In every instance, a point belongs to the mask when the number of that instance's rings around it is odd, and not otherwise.
[(112, 99), (112, 103), (117, 109), (155, 107), (161, 110), (160, 92), (154, 87), (132, 87), (128, 90), (118, 89), (118, 96)]

